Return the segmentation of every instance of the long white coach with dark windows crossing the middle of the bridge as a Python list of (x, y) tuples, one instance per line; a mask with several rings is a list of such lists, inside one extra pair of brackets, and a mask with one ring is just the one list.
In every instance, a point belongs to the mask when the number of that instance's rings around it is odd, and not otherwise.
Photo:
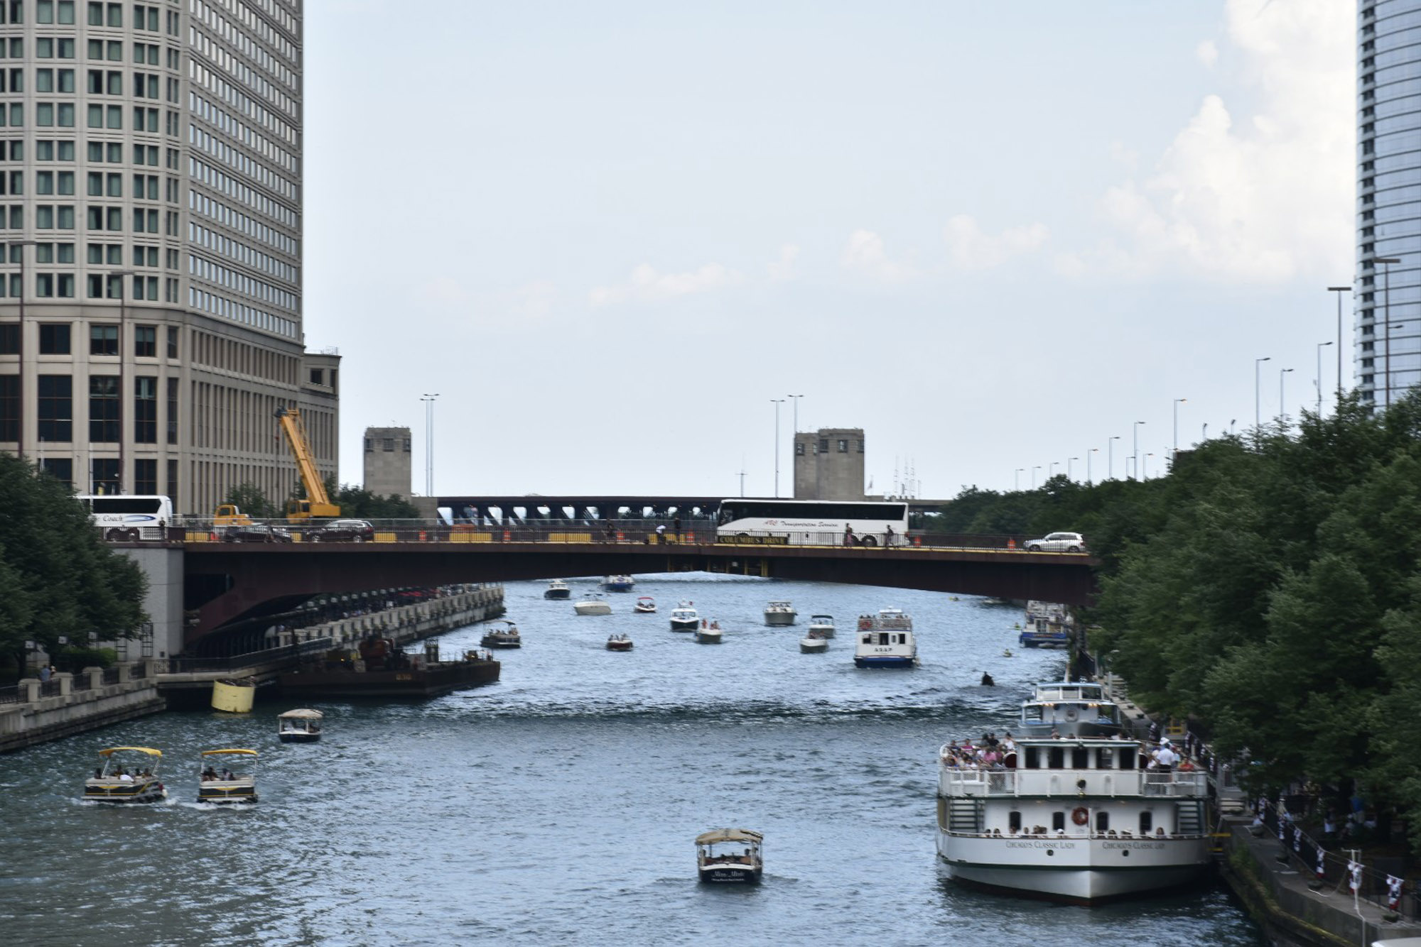
[(907, 532), (907, 503), (722, 500), (716, 511), (716, 542), (902, 545)]

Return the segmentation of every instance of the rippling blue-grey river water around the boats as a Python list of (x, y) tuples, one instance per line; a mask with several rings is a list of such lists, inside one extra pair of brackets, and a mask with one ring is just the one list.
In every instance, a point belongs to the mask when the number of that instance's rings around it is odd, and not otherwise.
[[(574, 581), (574, 596), (593, 588)], [(0, 930), (13, 944), (1263, 944), (1222, 886), (1096, 909), (965, 890), (934, 853), (935, 758), (1010, 728), (1063, 653), (1016, 647), (980, 599), (701, 574), (645, 576), (612, 616), (507, 586), (524, 645), (499, 684), (327, 701), (317, 744), (166, 713), (0, 757)], [(658, 615), (634, 615), (654, 595)], [(764, 628), (770, 598), (800, 612)], [(720, 646), (669, 630), (678, 599)], [(914, 615), (922, 666), (853, 667), (853, 619)], [(799, 653), (811, 612), (840, 626)], [(604, 647), (628, 632), (630, 653)], [(442, 637), (477, 645), (479, 628)], [(1005, 656), (1010, 647), (1015, 656)], [(980, 686), (982, 672), (996, 687)], [(95, 752), (162, 748), (171, 798), (85, 804)], [(198, 754), (261, 752), (254, 806), (199, 806)], [(759, 887), (695, 882), (692, 838), (764, 833)]]

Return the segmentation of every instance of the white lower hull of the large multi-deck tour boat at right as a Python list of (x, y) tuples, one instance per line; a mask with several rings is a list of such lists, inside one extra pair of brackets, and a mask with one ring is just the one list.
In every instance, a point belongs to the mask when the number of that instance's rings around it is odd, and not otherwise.
[[(1010, 848), (1016, 846), (1016, 848)], [(1206, 841), (982, 838), (938, 832), (938, 855), (969, 886), (1071, 904), (1181, 887), (1209, 869)]]

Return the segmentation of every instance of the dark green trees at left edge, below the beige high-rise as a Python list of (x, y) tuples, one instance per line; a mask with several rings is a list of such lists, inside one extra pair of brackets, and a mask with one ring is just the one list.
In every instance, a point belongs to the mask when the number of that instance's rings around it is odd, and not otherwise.
[(0, 454), (0, 649), (60, 635), (131, 637), (146, 615), (148, 581), (109, 549), (70, 488), (14, 454)]

